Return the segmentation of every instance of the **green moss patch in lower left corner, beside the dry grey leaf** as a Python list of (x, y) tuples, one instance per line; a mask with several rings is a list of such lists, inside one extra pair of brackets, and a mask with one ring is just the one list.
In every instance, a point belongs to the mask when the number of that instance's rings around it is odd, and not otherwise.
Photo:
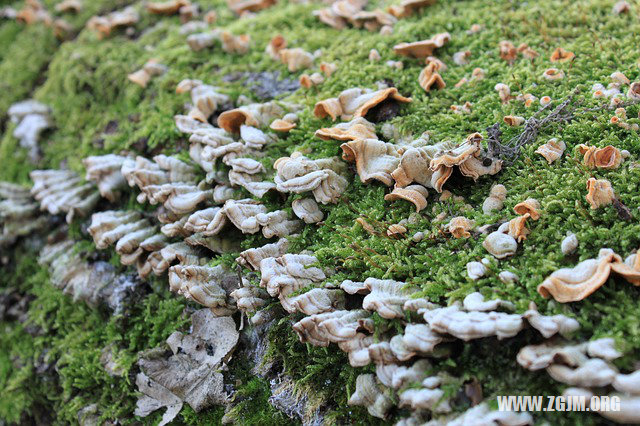
[[(0, 418), (17, 423), (42, 406), (58, 422), (74, 423), (78, 410), (93, 403), (103, 419), (130, 418), (136, 397), (128, 372), (137, 352), (160, 345), (189, 323), (182, 315), (185, 303), (165, 290), (149, 295), (127, 316), (110, 316), (52, 287), (33, 255), (18, 258), (1, 287), (33, 300), (27, 323), (2, 324), (0, 387), (10, 392), (0, 402)], [(107, 346), (114, 348), (123, 377), (105, 373), (100, 356)]]

